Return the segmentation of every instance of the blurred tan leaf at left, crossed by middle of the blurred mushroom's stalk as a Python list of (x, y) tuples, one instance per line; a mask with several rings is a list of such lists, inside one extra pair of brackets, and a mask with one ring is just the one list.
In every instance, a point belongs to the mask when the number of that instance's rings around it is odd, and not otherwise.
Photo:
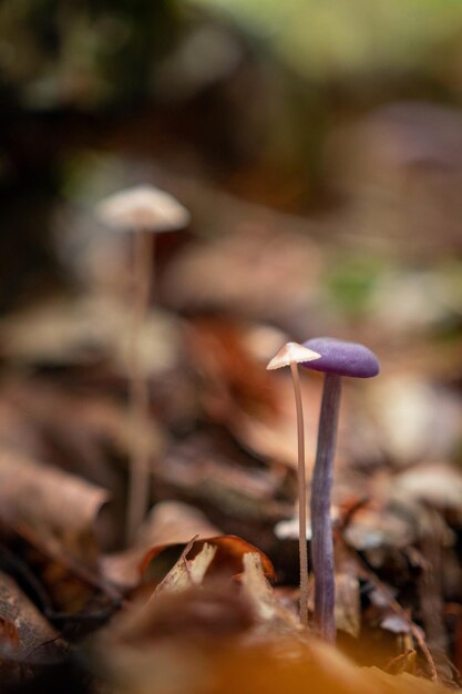
[[(109, 357), (126, 374), (131, 310), (104, 295), (34, 306), (0, 323), (1, 355), (19, 364), (52, 365), (85, 365)], [(140, 340), (145, 374), (176, 365), (181, 337), (172, 315), (152, 312)]]

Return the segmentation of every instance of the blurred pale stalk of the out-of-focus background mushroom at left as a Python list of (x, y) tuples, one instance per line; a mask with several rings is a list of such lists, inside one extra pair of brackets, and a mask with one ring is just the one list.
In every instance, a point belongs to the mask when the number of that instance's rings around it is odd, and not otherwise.
[(153, 283), (154, 234), (142, 231), (135, 235), (135, 297), (129, 363), (131, 442), (126, 540), (131, 544), (146, 514), (148, 503), (148, 450), (145, 431), (148, 419), (148, 386), (141, 358), (141, 335)]

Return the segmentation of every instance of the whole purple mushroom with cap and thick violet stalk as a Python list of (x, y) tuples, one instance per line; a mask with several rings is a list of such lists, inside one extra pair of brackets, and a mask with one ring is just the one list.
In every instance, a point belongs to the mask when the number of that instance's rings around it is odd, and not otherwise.
[(333, 616), (333, 541), (330, 496), (333, 479), (341, 377), (371, 378), (380, 371), (376, 355), (357, 343), (317, 337), (304, 344), (321, 355), (301, 366), (325, 374), (318, 446), (311, 482), (312, 567), (315, 571), (315, 627), (329, 642), (336, 640)]

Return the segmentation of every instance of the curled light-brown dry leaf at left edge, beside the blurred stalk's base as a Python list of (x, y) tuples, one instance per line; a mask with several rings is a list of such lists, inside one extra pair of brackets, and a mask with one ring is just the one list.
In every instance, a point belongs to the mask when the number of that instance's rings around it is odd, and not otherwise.
[(107, 500), (83, 479), (0, 450), (0, 518), (32, 543), (95, 565), (96, 520)]

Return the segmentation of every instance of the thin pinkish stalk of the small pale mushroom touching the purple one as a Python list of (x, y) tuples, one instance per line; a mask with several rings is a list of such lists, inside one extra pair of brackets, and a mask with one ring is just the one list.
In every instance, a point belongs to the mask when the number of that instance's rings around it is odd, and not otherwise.
[(295, 361), (290, 363), (297, 411), (298, 441), (298, 543), (300, 554), (300, 622), (308, 626), (308, 551), (307, 551), (307, 482), (305, 473), (305, 427), (300, 392), (300, 376)]

